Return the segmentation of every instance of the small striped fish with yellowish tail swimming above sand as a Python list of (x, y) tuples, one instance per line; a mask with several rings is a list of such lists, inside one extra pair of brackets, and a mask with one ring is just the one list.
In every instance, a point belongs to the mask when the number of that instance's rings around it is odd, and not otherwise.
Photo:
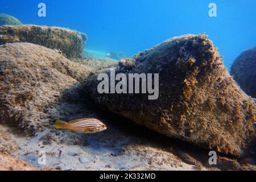
[(107, 129), (106, 125), (95, 118), (75, 119), (69, 122), (57, 120), (54, 124), (56, 129), (65, 129), (76, 133), (98, 133)]

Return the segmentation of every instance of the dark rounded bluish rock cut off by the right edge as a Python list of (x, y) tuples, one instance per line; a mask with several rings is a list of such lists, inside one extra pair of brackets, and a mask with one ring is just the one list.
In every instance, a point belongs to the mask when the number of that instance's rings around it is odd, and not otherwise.
[(231, 74), (243, 91), (256, 98), (256, 47), (242, 52), (234, 60)]

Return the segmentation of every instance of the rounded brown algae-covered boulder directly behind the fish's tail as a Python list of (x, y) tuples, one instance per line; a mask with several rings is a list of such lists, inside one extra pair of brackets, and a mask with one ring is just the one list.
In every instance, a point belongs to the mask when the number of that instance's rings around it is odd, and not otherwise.
[(28, 135), (86, 113), (79, 81), (94, 69), (31, 43), (0, 46), (0, 122)]

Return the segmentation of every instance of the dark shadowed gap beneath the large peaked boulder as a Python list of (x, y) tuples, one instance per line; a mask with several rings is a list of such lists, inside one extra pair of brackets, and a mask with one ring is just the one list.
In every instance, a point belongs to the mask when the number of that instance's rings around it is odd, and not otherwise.
[[(201, 169), (202, 167), (221, 170), (242, 169), (242, 161), (245, 159), (236, 159), (234, 156), (218, 153), (217, 165), (210, 165), (210, 150), (184, 142), (180, 139), (166, 137), (156, 131), (138, 125), (121, 115), (100, 110), (97, 106), (95, 106), (94, 109), (97, 110), (97, 115), (104, 118), (105, 121), (108, 121), (109, 126), (118, 129), (119, 133), (122, 133), (126, 137), (134, 138), (127, 144), (142, 144), (144, 146), (155, 147), (159, 150), (170, 152), (171, 154), (176, 155), (177, 158), (181, 159), (184, 163), (195, 165), (198, 169)], [(255, 159), (249, 159), (249, 163), (255, 165)], [(243, 169), (250, 169), (250, 167), (244, 167)]]

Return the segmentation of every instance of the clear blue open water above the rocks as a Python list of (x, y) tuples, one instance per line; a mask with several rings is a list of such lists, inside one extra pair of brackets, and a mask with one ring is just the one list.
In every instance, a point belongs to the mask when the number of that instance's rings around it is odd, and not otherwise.
[[(46, 3), (47, 16), (38, 16)], [(217, 5), (217, 17), (208, 5)], [(173, 36), (206, 32), (226, 67), (256, 46), (255, 0), (0, 0), (0, 12), (22, 23), (60, 26), (85, 32), (86, 48), (135, 55)]]

